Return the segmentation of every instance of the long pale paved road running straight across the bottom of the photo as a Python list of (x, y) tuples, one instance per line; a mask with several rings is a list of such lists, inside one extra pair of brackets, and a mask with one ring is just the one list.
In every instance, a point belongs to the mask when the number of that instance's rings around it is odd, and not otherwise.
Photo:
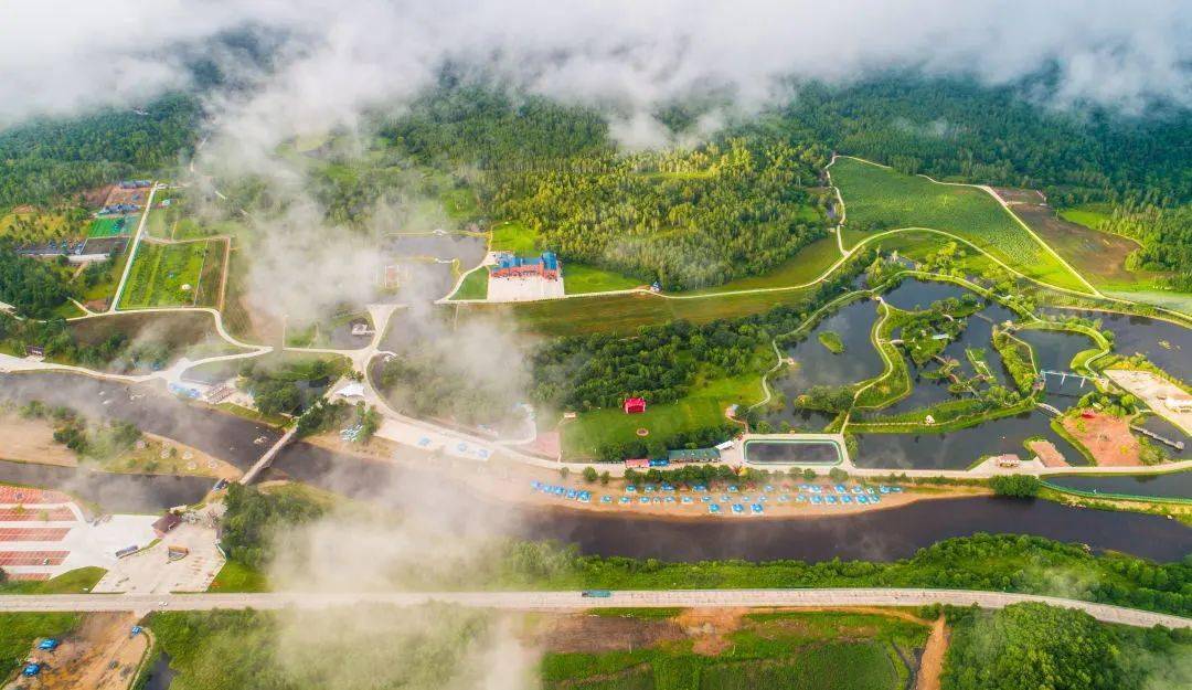
[(1075, 599), (962, 590), (819, 589), (819, 590), (669, 590), (616, 591), (585, 598), (577, 591), (554, 592), (389, 592), (389, 593), (195, 593), (195, 595), (10, 595), (0, 613), (12, 611), (153, 611), (211, 609), (321, 609), (350, 604), (418, 605), (432, 601), (505, 610), (575, 610), (653, 607), (918, 607), (932, 603), (998, 609), (1043, 602), (1081, 609), (1110, 623), (1192, 628), (1192, 618), (1153, 614)]

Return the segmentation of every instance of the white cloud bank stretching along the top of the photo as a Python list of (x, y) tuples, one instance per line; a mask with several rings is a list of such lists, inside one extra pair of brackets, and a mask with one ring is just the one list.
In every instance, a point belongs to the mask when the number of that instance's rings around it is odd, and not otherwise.
[[(1192, 6), (1179, 1), (50, 0), (11, 11), (0, 29), (0, 124), (184, 86), (187, 57), (252, 26), (287, 37), (250, 98), (217, 104), (228, 126), (253, 135), (350, 124), (433, 83), (445, 63), (633, 112), (708, 89), (764, 102), (782, 77), (846, 81), (892, 67), (989, 83), (1053, 68), (1061, 104), (1192, 105)], [(207, 57), (242, 67), (226, 51)], [(642, 123), (627, 124), (635, 141)]]

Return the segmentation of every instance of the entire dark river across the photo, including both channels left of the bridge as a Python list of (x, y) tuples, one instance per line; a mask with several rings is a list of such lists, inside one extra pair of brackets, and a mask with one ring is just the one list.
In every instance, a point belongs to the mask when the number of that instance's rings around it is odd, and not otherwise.
[[(817, 343), (818, 344), (818, 343)], [(4, 394), (17, 399), (14, 391), (97, 415), (131, 415), (142, 428), (176, 437), (212, 455), (243, 464), (262, 449), (252, 439), (261, 433), (256, 424), (199, 408), (166, 396), (129, 400), (125, 386), (97, 384), (70, 374), (51, 374), (43, 385), (33, 377), (5, 377)], [(13, 379), (19, 379), (13, 386)], [(98, 391), (114, 402), (95, 403)], [(136, 394), (136, 393), (135, 393)], [(149, 400), (149, 402), (147, 402)], [(204, 435), (212, 437), (204, 439)], [(862, 437), (870, 443), (876, 435)], [(207, 449), (210, 448), (210, 449)], [(410, 452), (411, 456), (415, 452)], [(205, 490), (209, 479), (137, 478), (88, 474), (79, 470), (37, 468), (0, 464), (0, 481), (42, 485), (67, 491), (94, 491), (100, 503), (143, 506), (155, 512), (162, 506), (194, 501), (191, 492)], [(725, 559), (749, 560), (839, 558), (895, 559), (940, 539), (977, 532), (1035, 534), (1061, 541), (1079, 541), (1099, 549), (1118, 549), (1142, 557), (1171, 560), (1192, 551), (1192, 529), (1157, 516), (1067, 508), (1049, 502), (1020, 502), (997, 498), (927, 501), (908, 506), (862, 512), (851, 516), (791, 520), (668, 521), (627, 516), (596, 516), (566, 510), (510, 509), (507, 504), (485, 503), (462, 487), (448, 487), (453, 501), (478, 508), (471, 517), (451, 517), (459, 511), (443, 510), (443, 478), (429, 471), (414, 471), (385, 462), (337, 455), (305, 443), (284, 449), (273, 475), (288, 475), (346, 496), (389, 503), (423, 515), (442, 516), (443, 527), (464, 529), (452, 521), (483, 520), (515, 512), (520, 520), (516, 535), (526, 539), (555, 539), (575, 542), (583, 553), (660, 558), (666, 560)], [(201, 483), (201, 486), (200, 486)], [(92, 486), (80, 489), (80, 486)], [(528, 490), (528, 489), (527, 489)], [(117, 498), (112, 498), (116, 493)], [(199, 493), (201, 495), (201, 493)], [(132, 498), (137, 502), (132, 503)], [(85, 497), (87, 495), (85, 493)], [(91, 498), (89, 498), (91, 499)], [(129, 501), (125, 504), (123, 502)], [(477, 517), (480, 515), (482, 517)]]

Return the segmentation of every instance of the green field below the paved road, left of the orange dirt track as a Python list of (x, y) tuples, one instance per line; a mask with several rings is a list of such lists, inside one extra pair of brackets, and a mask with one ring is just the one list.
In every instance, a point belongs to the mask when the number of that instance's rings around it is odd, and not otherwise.
[(867, 614), (752, 614), (724, 638), (718, 651), (702, 653), (691, 639), (613, 652), (547, 652), (544, 688), (894, 690), (909, 677), (895, 646), (912, 658), (926, 628)]

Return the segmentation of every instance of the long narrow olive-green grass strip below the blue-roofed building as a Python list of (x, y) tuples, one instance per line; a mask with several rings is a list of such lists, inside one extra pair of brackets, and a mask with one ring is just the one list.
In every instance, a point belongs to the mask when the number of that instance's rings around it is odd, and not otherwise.
[(666, 323), (677, 318), (707, 323), (719, 318), (760, 313), (780, 304), (799, 306), (806, 304), (808, 290), (697, 299), (668, 299), (635, 293), (521, 304), (460, 305), (454, 309), (460, 310), (460, 318), (471, 315), (499, 317), (514, 322), (523, 332), (544, 336), (586, 332), (632, 334), (640, 325)]

